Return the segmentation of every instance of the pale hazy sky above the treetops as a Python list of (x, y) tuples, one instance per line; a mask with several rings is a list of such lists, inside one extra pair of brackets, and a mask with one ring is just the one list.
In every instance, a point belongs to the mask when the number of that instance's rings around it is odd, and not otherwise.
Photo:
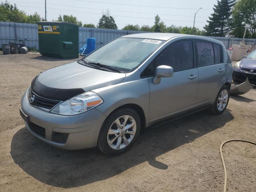
[[(37, 12), (44, 17), (45, 0), (10, 0), (8, 2), (16, 3), (17, 7), (27, 14)], [(159, 14), (166, 26), (173, 24), (192, 27), (194, 14), (202, 7), (196, 14), (195, 20), (195, 27), (202, 30), (207, 24), (208, 16), (213, 13), (214, 4), (217, 4), (217, 0), (46, 0), (46, 18), (51, 21), (56, 20), (60, 14), (72, 14), (77, 20), (82, 21), (82, 24), (97, 25), (102, 12), (108, 9), (118, 29), (122, 29), (126, 24), (153, 26), (156, 14)]]

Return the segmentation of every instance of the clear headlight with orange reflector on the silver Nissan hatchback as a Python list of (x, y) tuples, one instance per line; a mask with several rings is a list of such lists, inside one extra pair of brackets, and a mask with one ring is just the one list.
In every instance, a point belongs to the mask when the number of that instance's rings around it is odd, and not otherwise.
[(82, 93), (56, 106), (52, 113), (60, 115), (77, 115), (103, 103), (102, 98), (92, 91)]

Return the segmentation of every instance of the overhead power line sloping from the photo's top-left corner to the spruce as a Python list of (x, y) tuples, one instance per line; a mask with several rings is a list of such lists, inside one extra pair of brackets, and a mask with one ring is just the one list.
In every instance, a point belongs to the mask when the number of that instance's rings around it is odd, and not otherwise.
[[(9, 1), (9, 2), (14, 2), (14, 1)], [(35, 4), (44, 4), (40, 2), (17, 2), (15, 3), (35, 3)], [(105, 10), (105, 9), (100, 9), (100, 8), (88, 8), (88, 7), (81, 7), (81, 6), (70, 6), (70, 5), (61, 5), (61, 4), (52, 4), (52, 3), (47, 3), (48, 5), (56, 5), (56, 6), (66, 6), (66, 7), (74, 7), (74, 8), (85, 8), (85, 9), (94, 9), (94, 10)], [(122, 10), (110, 10), (110, 11), (115, 11), (115, 12), (128, 12), (128, 13), (139, 13), (139, 14), (152, 14), (152, 15), (165, 15), (165, 16), (180, 16), (180, 17), (194, 17), (194, 16), (186, 16), (186, 15), (172, 15), (172, 14), (162, 14), (162, 13), (148, 13), (148, 12), (133, 12), (133, 11), (122, 11)], [(197, 18), (208, 18), (208, 17), (197, 17)]]

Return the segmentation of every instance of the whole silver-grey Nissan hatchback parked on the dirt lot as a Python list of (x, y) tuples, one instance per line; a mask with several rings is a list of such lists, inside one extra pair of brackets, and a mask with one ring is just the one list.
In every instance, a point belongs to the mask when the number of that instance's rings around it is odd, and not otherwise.
[(122, 36), (77, 62), (38, 74), (21, 99), (28, 130), (53, 146), (98, 146), (113, 155), (146, 127), (228, 105), (231, 60), (222, 42), (202, 36)]

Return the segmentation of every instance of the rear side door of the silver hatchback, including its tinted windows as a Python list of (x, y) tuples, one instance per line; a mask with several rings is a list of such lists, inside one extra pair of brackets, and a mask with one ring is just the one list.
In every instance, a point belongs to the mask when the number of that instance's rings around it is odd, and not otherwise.
[(196, 54), (199, 75), (196, 102), (210, 104), (225, 81), (222, 47), (212, 42), (196, 40)]

